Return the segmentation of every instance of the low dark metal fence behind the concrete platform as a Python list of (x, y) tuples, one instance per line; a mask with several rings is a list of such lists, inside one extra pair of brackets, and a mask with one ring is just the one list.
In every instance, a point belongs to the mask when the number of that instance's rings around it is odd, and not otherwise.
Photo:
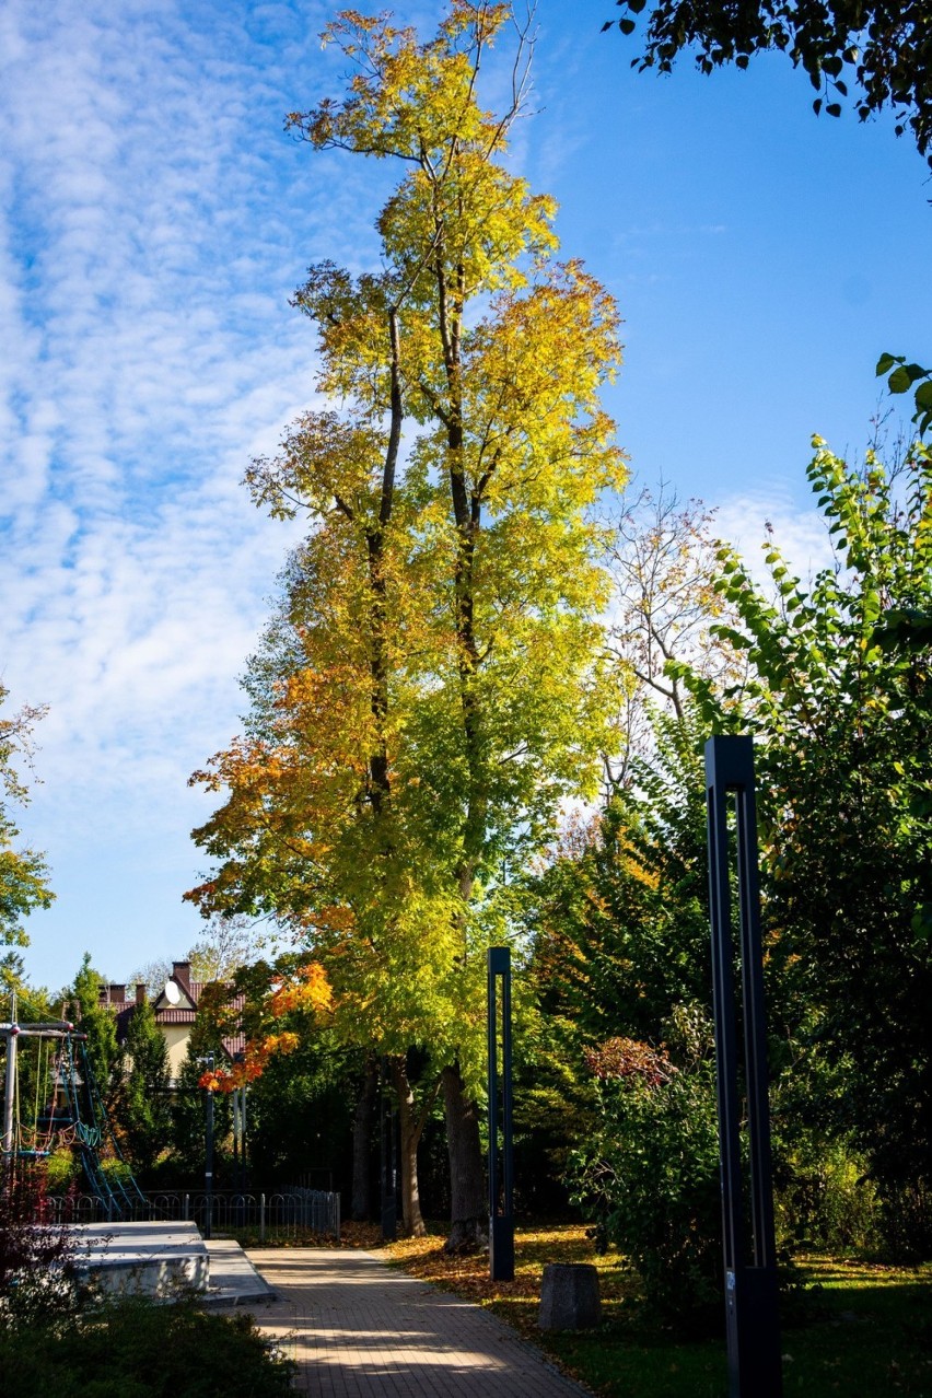
[[(140, 1223), (177, 1220), (197, 1223), (201, 1233), (256, 1233), (265, 1239), (320, 1233), (340, 1237), (340, 1195), (298, 1186), (277, 1194), (162, 1191), (134, 1202), (117, 1218), (94, 1194), (50, 1195), (46, 1201), (56, 1223)], [(208, 1227), (210, 1208), (210, 1227)], [(129, 1212), (129, 1216), (127, 1216)]]

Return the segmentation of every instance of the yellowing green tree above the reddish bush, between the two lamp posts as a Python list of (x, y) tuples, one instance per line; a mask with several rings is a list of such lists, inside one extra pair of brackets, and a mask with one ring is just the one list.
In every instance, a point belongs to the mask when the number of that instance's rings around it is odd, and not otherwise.
[(711, 1009), (700, 727), (654, 713), (654, 728), (653, 755), (537, 884), (542, 1005), (588, 1044), (660, 1042), (675, 1005)]

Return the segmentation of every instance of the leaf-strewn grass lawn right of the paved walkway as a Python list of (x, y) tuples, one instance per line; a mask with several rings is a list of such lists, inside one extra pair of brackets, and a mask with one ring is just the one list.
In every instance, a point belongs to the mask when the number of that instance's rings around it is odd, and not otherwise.
[[(359, 1239), (363, 1246), (374, 1240)], [(402, 1239), (384, 1255), (414, 1276), (489, 1306), (560, 1367), (611, 1398), (724, 1398), (725, 1341), (679, 1343), (651, 1327), (634, 1278), (616, 1253), (597, 1257), (581, 1225), (520, 1229), (513, 1282), (490, 1282), (488, 1257), (444, 1257), (443, 1233)], [(932, 1398), (932, 1264), (883, 1267), (843, 1258), (798, 1260), (810, 1318), (782, 1335), (787, 1398)], [(537, 1327), (545, 1262), (594, 1262), (602, 1324), (585, 1334)]]

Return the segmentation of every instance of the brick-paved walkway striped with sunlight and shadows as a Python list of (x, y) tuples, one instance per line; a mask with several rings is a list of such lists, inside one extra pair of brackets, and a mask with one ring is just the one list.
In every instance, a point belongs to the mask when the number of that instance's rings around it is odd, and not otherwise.
[(256, 1324), (314, 1398), (583, 1398), (495, 1316), (349, 1248), (250, 1250), (278, 1297)]

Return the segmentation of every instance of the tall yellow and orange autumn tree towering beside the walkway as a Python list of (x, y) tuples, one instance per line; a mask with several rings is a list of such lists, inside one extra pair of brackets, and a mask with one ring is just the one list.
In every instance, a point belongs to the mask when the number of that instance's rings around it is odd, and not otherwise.
[[(506, 4), (453, 0), (435, 39), (341, 14), (342, 101), (289, 117), (319, 150), (405, 171), (383, 270), (312, 268), (320, 389), (260, 503), (313, 527), (250, 667), (245, 738), (201, 776), (229, 790), (196, 832), (204, 910), (274, 911), (310, 942), (347, 1032), (429, 1050), (443, 1083), (453, 1240), (486, 1212), (481, 951), (507, 935), (506, 868), (597, 777), (605, 580), (590, 509), (623, 478), (598, 390), (618, 317), (558, 263), (553, 203), (503, 164), (523, 105), (476, 99)], [(340, 403), (340, 411), (335, 404)], [(401, 1089), (404, 1095), (404, 1088)]]

